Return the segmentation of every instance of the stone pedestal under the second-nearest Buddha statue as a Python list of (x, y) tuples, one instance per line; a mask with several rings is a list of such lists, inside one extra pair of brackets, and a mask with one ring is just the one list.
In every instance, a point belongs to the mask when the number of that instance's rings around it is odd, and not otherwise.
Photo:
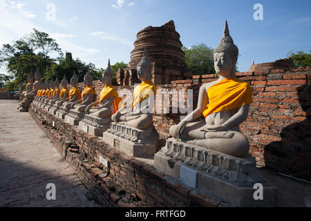
[(103, 140), (132, 157), (148, 159), (153, 159), (154, 154), (158, 151), (160, 142), (158, 132), (153, 125), (142, 131), (114, 122), (103, 133)]

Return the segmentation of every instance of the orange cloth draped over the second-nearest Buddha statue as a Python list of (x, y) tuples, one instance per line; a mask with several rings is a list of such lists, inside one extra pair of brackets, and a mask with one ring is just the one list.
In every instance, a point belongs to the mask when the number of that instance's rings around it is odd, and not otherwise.
[(142, 102), (144, 99), (147, 99), (149, 95), (156, 96), (156, 91), (156, 86), (154, 86), (151, 80), (142, 81), (142, 83), (134, 90), (134, 100), (132, 107), (134, 108), (136, 104)]

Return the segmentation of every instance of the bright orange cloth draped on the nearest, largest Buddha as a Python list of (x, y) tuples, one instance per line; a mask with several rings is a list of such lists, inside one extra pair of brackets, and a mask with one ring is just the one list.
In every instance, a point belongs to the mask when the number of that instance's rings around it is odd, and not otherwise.
[(227, 111), (246, 104), (252, 104), (252, 88), (248, 83), (228, 77), (214, 84), (207, 89), (209, 104), (203, 111), (203, 116), (207, 117), (211, 113)]

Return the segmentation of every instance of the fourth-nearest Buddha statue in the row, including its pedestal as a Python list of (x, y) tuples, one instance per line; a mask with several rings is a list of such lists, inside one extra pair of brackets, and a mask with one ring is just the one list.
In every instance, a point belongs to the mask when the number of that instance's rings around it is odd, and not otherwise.
[(85, 109), (88, 105), (93, 103), (95, 91), (93, 89), (93, 76), (91, 75), (90, 68), (84, 76), (84, 84), (86, 87), (82, 90), (81, 97), (70, 105), (70, 111), (65, 117), (65, 121), (71, 125), (79, 125), (79, 121), (84, 119)]

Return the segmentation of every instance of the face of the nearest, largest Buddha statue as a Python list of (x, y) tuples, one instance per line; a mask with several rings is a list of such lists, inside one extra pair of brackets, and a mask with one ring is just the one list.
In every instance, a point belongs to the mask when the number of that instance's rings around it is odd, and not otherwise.
[(236, 59), (228, 52), (216, 52), (214, 54), (214, 67), (218, 75), (231, 77), (234, 75)]

